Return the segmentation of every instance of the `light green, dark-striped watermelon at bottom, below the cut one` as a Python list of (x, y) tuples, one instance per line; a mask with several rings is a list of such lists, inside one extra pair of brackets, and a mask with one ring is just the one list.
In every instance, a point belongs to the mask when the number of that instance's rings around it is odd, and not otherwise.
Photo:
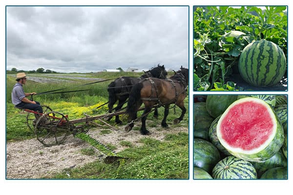
[(257, 173), (249, 161), (227, 156), (212, 170), (214, 179), (257, 179)]

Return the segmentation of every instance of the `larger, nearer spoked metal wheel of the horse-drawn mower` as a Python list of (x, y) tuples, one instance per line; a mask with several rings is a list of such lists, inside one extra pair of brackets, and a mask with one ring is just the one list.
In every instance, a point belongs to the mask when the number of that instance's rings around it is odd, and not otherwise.
[(42, 115), (35, 126), (37, 139), (45, 146), (62, 144), (71, 134), (68, 118), (62, 113), (49, 112)]

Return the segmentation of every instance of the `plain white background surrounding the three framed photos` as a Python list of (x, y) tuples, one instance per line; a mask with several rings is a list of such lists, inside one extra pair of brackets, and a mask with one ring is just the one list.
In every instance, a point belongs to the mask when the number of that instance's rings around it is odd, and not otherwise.
[[(292, 1), (292, 0), (291, 0)], [(292, 24), (292, 3), (289, 0), (1, 0), (0, 1), (0, 56), (1, 56), (1, 74), (2, 84), (1, 87), (1, 110), (2, 116), (1, 124), (1, 194), (12, 195), (88, 195), (88, 194), (100, 194), (100, 195), (175, 195), (175, 194), (192, 194), (192, 195), (206, 195), (206, 194), (263, 194), (263, 195), (275, 195), (287, 193), (292, 186), (293, 175), (291, 170), (292, 157), (291, 157), (291, 140), (292, 133), (289, 130), (289, 179), (288, 180), (193, 180), (192, 167), (192, 6), (193, 5), (288, 5), (288, 17), (289, 17), (289, 39), (291, 36)], [(190, 85), (189, 85), (189, 180), (5, 180), (5, 95), (4, 95), (4, 83), (5, 83), (5, 5), (189, 5), (189, 72), (190, 72)], [(291, 22), (291, 23), (290, 23)], [(288, 70), (289, 76), (292, 75), (292, 68), (290, 66), (292, 54), (289, 48), (289, 63)], [(289, 94), (291, 91), (289, 78), (289, 91), (283, 94)], [(255, 94), (263, 94), (252, 92)], [(203, 93), (202, 93), (203, 94)], [(206, 93), (204, 93), (206, 94)], [(208, 93), (211, 94), (211, 93)], [(280, 94), (280, 93), (270, 93)], [(292, 97), (289, 94), (289, 129), (291, 128), (291, 106)]]

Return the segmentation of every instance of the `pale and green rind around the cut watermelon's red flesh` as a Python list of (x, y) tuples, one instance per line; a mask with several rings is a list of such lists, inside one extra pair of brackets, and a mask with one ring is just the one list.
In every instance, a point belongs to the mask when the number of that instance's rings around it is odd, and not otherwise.
[[(243, 150), (240, 151), (239, 149), (231, 148), (226, 141), (223, 140), (220, 133), (220, 124), (226, 114), (229, 112), (230, 108), (233, 107), (235, 104), (246, 102), (246, 101), (257, 101), (265, 105), (274, 120), (275, 128), (272, 136), (258, 149), (255, 150), (253, 153), (251, 152), (244, 152)], [(276, 116), (275, 112), (272, 110), (269, 104), (259, 98), (241, 98), (234, 101), (224, 112), (224, 114), (220, 117), (218, 124), (217, 124), (217, 137), (219, 138), (220, 143), (223, 145), (224, 148), (233, 156), (238, 158), (252, 161), (252, 162), (262, 162), (269, 158), (271, 158), (276, 152), (280, 150), (284, 142), (284, 131), (281, 125), (279, 118)]]

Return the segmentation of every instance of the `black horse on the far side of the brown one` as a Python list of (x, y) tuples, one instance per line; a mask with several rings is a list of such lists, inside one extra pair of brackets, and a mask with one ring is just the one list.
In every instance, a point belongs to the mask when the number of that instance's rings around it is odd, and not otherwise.
[[(118, 100), (118, 105), (115, 108), (115, 111), (119, 111), (123, 105), (126, 103), (127, 98), (129, 97), (129, 93), (132, 89), (132, 86), (134, 86), (136, 83), (141, 81), (144, 78), (167, 78), (167, 71), (165, 70), (164, 65), (159, 65), (157, 67), (151, 68), (150, 70), (146, 71), (144, 75), (142, 75), (139, 78), (134, 77), (120, 77), (116, 78), (113, 82), (111, 82), (108, 85), (107, 91), (109, 93), (109, 103), (108, 103), (108, 109), (109, 113), (113, 110), (113, 105)], [(154, 117), (158, 116), (158, 111), (155, 110)], [(108, 118), (108, 121), (112, 117)], [(122, 121), (119, 119), (119, 116), (117, 115), (115, 117), (115, 122), (117, 124), (122, 124)]]

